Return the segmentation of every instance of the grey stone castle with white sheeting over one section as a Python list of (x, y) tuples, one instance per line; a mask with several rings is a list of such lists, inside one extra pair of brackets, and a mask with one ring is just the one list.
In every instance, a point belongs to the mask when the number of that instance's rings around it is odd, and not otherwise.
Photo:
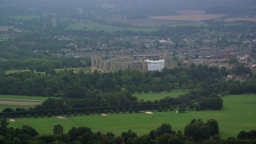
[(162, 71), (165, 67), (174, 68), (177, 66), (177, 62), (173, 62), (172, 59), (172, 52), (167, 52), (166, 50), (162, 54), (134, 55), (133, 58), (103, 59), (95, 55), (91, 58), (91, 69), (104, 73), (118, 70)]

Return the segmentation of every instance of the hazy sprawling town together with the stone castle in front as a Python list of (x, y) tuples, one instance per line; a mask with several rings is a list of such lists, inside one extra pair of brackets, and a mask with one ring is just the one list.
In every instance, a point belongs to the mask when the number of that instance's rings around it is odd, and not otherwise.
[[(88, 43), (78, 43), (73, 37), (56, 37), (58, 41), (70, 43), (66, 49), (58, 52), (58, 56), (75, 58), (91, 58), (91, 69), (104, 73), (118, 70), (161, 71), (164, 67), (189, 68), (196, 66), (214, 66), (233, 69), (230, 63), (235, 58), (238, 63), (250, 67), (256, 73), (255, 55), (252, 48), (255, 39), (241, 39), (236, 36), (222, 38), (185, 38), (177, 42), (158, 37), (122, 37), (111, 38), (108, 42), (94, 43), (93, 38), (82, 38)], [(89, 42), (91, 41), (91, 42)], [(226, 46), (224, 46), (226, 44)], [(222, 46), (223, 45), (223, 46)], [(70, 47), (74, 47), (69, 49)], [(236, 63), (236, 64), (238, 64)]]

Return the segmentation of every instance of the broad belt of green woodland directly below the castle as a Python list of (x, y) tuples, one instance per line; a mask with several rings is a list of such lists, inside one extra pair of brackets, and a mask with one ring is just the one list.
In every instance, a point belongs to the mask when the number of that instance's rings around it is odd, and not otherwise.
[(203, 95), (206, 96), (226, 91), (230, 94), (255, 93), (255, 77), (247, 78), (244, 82), (226, 81), (224, 78), (229, 73), (225, 68), (207, 66), (146, 73), (132, 70), (109, 74), (101, 74), (98, 71), (85, 74), (83, 71), (74, 70), (49, 70), (46, 74), (0, 73), (0, 94), (86, 98), (92, 93), (120, 91), (157, 93), (171, 90), (203, 90)]

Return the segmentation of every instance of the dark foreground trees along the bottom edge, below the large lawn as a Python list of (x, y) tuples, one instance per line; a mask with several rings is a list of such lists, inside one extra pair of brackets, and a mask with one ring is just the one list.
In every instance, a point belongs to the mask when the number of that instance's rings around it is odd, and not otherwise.
[(102, 143), (102, 144), (158, 144), (158, 143), (254, 143), (256, 142), (256, 130), (246, 132), (242, 130), (237, 138), (229, 137), (222, 139), (219, 135), (218, 122), (209, 119), (203, 122), (201, 119), (193, 119), (185, 126), (184, 133), (181, 130), (172, 130), (169, 123), (163, 123), (148, 134), (138, 136), (136, 132), (127, 130), (120, 136), (113, 132), (106, 134), (98, 131), (94, 133), (89, 127), (73, 127), (64, 133), (60, 124), (53, 127), (53, 134), (39, 135), (38, 131), (30, 126), (21, 128), (8, 127), (6, 119), (1, 120), (0, 142), (1, 143)]

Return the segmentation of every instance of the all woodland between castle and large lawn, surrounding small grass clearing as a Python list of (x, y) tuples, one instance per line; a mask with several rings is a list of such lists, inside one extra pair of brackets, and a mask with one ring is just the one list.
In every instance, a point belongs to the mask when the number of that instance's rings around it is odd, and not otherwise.
[[(119, 71), (111, 74), (85, 74), (72, 70), (52, 74), (31, 72), (0, 75), (0, 94), (55, 96), (42, 106), (29, 110), (7, 108), (2, 117), (38, 117), (40, 115), (99, 114), (138, 112), (140, 110), (221, 110), (222, 94), (255, 93), (254, 77), (245, 82), (226, 81), (225, 69), (192, 66), (189, 69), (162, 72)], [(190, 90), (178, 98), (154, 102), (138, 101), (132, 93)]]

